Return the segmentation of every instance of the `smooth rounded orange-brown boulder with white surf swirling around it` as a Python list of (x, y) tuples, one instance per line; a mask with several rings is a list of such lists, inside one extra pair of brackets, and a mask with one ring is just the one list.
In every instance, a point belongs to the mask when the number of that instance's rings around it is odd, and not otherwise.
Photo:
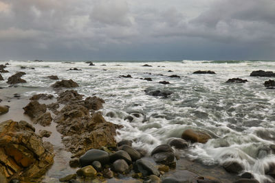
[(207, 143), (211, 136), (206, 132), (188, 129), (181, 134), (181, 138), (191, 143)]

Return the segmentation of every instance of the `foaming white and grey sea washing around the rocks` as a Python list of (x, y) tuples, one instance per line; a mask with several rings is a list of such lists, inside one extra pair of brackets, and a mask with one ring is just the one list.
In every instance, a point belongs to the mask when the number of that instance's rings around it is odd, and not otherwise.
[[(265, 169), (275, 164), (270, 149), (275, 144), (275, 90), (263, 85), (272, 78), (250, 77), (250, 73), (275, 71), (275, 61), (92, 61), (95, 65), (89, 66), (86, 61), (3, 60), (0, 64), (6, 62), (10, 73), (1, 73), (5, 81), (17, 71), (26, 73), (22, 79), (27, 83), (18, 84), (16, 89), (23, 90), (25, 97), (37, 93), (57, 96), (51, 88), (56, 81), (47, 78), (57, 75), (61, 80), (77, 82), (79, 87), (74, 89), (85, 97), (104, 99), (104, 118), (124, 126), (118, 130), (117, 141), (132, 140), (133, 147), (150, 152), (171, 138), (181, 138), (186, 129), (201, 130), (213, 138), (179, 151), (182, 158), (206, 165), (236, 160), (243, 165), (243, 172), (252, 173), (260, 182), (272, 181)], [(81, 71), (69, 70), (74, 68)], [(193, 74), (198, 70), (216, 74)], [(152, 81), (142, 80), (146, 77)], [(226, 83), (233, 77), (248, 82)], [(1, 88), (9, 87), (5, 81), (0, 81)], [(159, 84), (162, 81), (170, 84)], [(145, 90), (172, 94), (155, 97), (146, 95)]]

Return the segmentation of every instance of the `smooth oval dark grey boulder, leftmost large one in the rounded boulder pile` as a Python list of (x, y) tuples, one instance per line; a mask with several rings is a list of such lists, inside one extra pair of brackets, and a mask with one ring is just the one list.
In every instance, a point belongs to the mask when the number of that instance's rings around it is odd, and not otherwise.
[(94, 161), (99, 161), (101, 164), (109, 163), (109, 154), (98, 149), (90, 149), (83, 156), (80, 156), (79, 162), (81, 167), (85, 167)]

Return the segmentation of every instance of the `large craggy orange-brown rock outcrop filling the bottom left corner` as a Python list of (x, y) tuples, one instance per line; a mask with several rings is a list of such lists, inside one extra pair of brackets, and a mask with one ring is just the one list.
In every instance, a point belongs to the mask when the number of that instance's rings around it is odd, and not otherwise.
[(0, 123), (0, 174), (9, 181), (39, 182), (53, 164), (52, 149), (46, 148), (34, 131), (25, 121)]

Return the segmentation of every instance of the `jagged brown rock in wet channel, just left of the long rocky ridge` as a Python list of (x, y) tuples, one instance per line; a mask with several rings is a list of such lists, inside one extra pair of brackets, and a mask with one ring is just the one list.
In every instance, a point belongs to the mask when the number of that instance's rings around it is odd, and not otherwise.
[(29, 117), (39, 117), (41, 114), (44, 114), (47, 110), (47, 107), (45, 104), (40, 104), (38, 101), (30, 101), (25, 108), (23, 108), (25, 111), (24, 114), (27, 114)]

